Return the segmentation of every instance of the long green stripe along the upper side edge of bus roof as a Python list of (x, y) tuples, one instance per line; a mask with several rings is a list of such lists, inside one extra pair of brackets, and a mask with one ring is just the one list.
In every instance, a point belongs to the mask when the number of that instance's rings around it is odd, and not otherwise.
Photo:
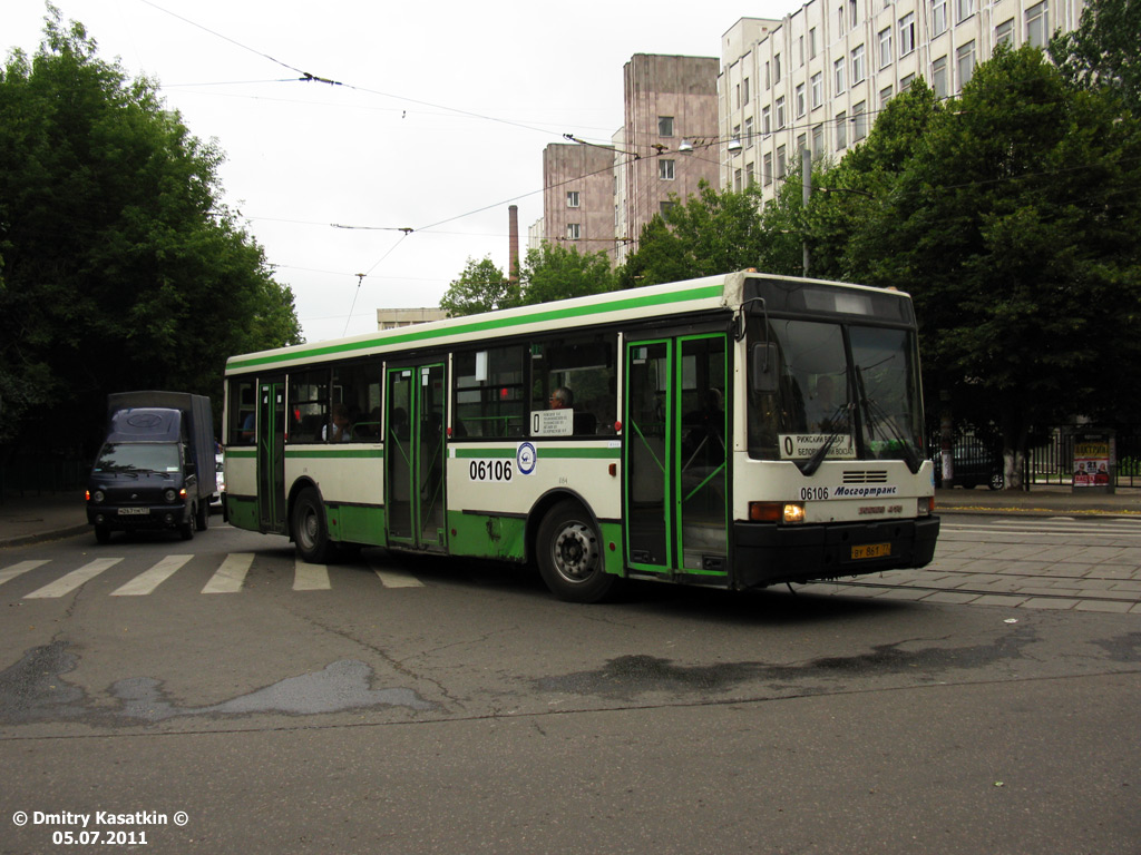
[[(674, 291), (667, 294), (654, 294), (652, 296), (636, 296), (614, 302), (599, 303), (596, 306), (576, 306), (566, 309), (548, 309), (545, 311), (534, 311), (516, 317), (502, 317), (496, 315), (483, 320), (471, 323), (458, 323), (443, 329), (426, 329), (399, 333), (396, 335), (369, 339), (366, 341), (346, 342), (340, 344), (326, 344), (324, 347), (292, 350), (288, 353), (273, 353), (262, 357), (242, 359), (235, 357), (227, 363), (227, 370), (235, 368), (252, 368), (259, 365), (273, 365), (275, 363), (288, 363), (294, 359), (313, 359), (332, 353), (351, 353), (357, 350), (367, 350), (379, 345), (411, 344), (413, 342), (427, 342), (432, 339), (447, 339), (453, 335), (464, 335), (468, 333), (502, 332), (508, 327), (525, 326), (527, 324), (542, 324), (551, 320), (565, 320), (567, 318), (581, 318), (590, 315), (606, 315), (626, 309), (640, 309), (655, 306), (669, 306), (671, 303), (690, 302), (694, 300), (707, 300), (721, 296), (725, 286), (705, 285), (689, 288), (688, 291)], [(302, 345), (304, 348), (304, 345)]]

